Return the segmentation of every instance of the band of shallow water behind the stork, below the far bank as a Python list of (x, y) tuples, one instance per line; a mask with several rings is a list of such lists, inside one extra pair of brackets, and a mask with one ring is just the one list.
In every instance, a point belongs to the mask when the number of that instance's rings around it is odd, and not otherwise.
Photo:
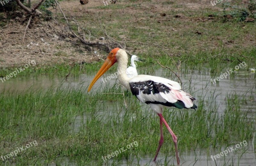
[[(155, 71), (155, 76), (164, 77), (169, 74), (168, 70), (158, 69)], [(107, 80), (107, 82), (103, 82), (104, 78), (110, 76), (112, 73), (106, 73), (102, 78), (98, 79), (90, 93), (98, 87), (105, 86), (106, 84), (112, 86), (116, 84), (116, 78)], [(236, 72), (236, 76), (234, 79), (221, 79), (219, 83), (211, 84), (211, 76), (209, 73), (196, 73), (193, 74), (182, 74), (180, 79), (182, 80), (182, 89), (188, 93), (190, 93), (193, 97), (198, 98), (198, 96), (202, 97), (210, 97), (214, 93), (214, 97), (216, 97), (216, 102), (219, 105), (219, 112), (223, 112), (225, 109), (225, 98), (227, 94), (236, 93), (240, 97), (248, 97), (251, 93), (255, 95), (256, 90), (256, 79), (254, 79), (255, 73), (246, 72), (240, 69), (239, 72)], [(49, 87), (59, 87), (63, 88), (85, 88), (87, 89), (88, 85), (94, 78), (94, 75), (86, 75), (81, 74), (79, 77), (73, 78), (68, 77), (67, 81), (62, 77), (54, 77), (49, 78), (46, 76), (40, 76), (37, 78), (31, 77), (28, 79), (25, 78), (10, 78), (4, 83), (0, 82), (0, 92), (4, 90), (17, 91), (22, 92), (27, 89), (38, 89), (43, 88), (47, 89)], [(165, 77), (168, 78), (168, 77)], [(168, 78), (170, 79), (170, 78)], [(177, 81), (177, 80), (175, 80)], [(247, 104), (241, 105), (241, 110), (248, 111), (248, 109), (256, 110), (256, 103), (250, 100), (247, 100)]]

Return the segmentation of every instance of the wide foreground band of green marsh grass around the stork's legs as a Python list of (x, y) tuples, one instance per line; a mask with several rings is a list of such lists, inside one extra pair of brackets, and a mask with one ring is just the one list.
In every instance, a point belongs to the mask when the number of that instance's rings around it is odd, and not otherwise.
[[(1, 93), (0, 154), (36, 140), (38, 146), (19, 153), (7, 165), (12, 162), (40, 165), (58, 162), (63, 157), (80, 165), (102, 165), (102, 155), (137, 141), (138, 147), (113, 157), (113, 162), (117, 164), (123, 158), (130, 161), (147, 154), (153, 157), (159, 139), (158, 117), (130, 92), (125, 92), (126, 109), (123, 95), (108, 94), (113, 92), (123, 93), (120, 87), (108, 85), (90, 93), (86, 88), (71, 87)], [(210, 151), (209, 147), (218, 151), (237, 141), (252, 140), (255, 119), (248, 114), (251, 109), (241, 110), (246, 98), (240, 96), (246, 94), (227, 94), (222, 114), (215, 99), (218, 94), (206, 94), (198, 96), (197, 110), (164, 110), (163, 116), (178, 136), (180, 155), (186, 151)], [(255, 98), (253, 91), (250, 96)], [(164, 136), (161, 152), (172, 156), (174, 146), (165, 128)]]

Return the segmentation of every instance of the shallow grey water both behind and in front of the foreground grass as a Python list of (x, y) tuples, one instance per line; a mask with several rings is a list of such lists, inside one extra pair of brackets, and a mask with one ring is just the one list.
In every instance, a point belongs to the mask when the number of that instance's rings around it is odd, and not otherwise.
[[(110, 76), (112, 73), (106, 73), (102, 77), (105, 78), (107, 76)], [(163, 76), (168, 75), (168, 70), (158, 69), (153, 74), (155, 76)], [(214, 97), (216, 104), (219, 106), (218, 111), (220, 113), (223, 113), (224, 109), (226, 108), (225, 100), (227, 94), (238, 94), (239, 97), (244, 97), (247, 99), (247, 104), (241, 104), (240, 110), (241, 111), (249, 111), (250, 116), (256, 115), (256, 102), (253, 102), (254, 100), (250, 101), (248, 100), (248, 96), (253, 95), (255, 97), (255, 90), (256, 90), (256, 79), (255, 79), (255, 73), (246, 72), (242, 69), (236, 73), (236, 76), (234, 79), (221, 79), (219, 83), (211, 84), (210, 79), (211, 76), (208, 72), (204, 73), (198, 73), (194, 72), (193, 74), (181, 74), (180, 79), (182, 80), (182, 88), (184, 91), (192, 94), (195, 98), (209, 98)], [(88, 85), (90, 84), (91, 80), (93, 79), (94, 75), (86, 75), (82, 74), (77, 78), (68, 77), (68, 80), (66, 81), (65, 78), (49, 78), (46, 76), (41, 76), (37, 78), (11, 78), (7, 80), (6, 82), (2, 83), (0, 82), (0, 92), (11, 90), (11, 91), (17, 91), (22, 92), (27, 89), (38, 89), (43, 88), (47, 89), (50, 87), (58, 87), (61, 85), (63, 88), (85, 88), (87, 89)], [(168, 78), (168, 77), (166, 77)], [(170, 78), (169, 78), (170, 79)], [(176, 80), (177, 81), (177, 80)], [(98, 87), (105, 86), (105, 84), (109, 84), (110, 86), (116, 83), (116, 78), (110, 79), (107, 83), (103, 83), (102, 79), (100, 78), (93, 86), (92, 92)], [(214, 95), (213, 95), (214, 93)], [(109, 103), (109, 107), (113, 107), (113, 102)], [(149, 107), (145, 104), (141, 104), (143, 110), (148, 110)], [(115, 107), (118, 108), (118, 107)], [(117, 111), (115, 109), (112, 109), (112, 111), (99, 111), (99, 118), (109, 117), (113, 114), (116, 114)], [(108, 116), (105, 116), (108, 115)], [(84, 118), (89, 116), (84, 116)], [(76, 117), (75, 119), (75, 129), (78, 129), (81, 126), (81, 116)], [(132, 121), (132, 118), (131, 118)], [(72, 132), (77, 132), (72, 131)], [(241, 140), (242, 141), (242, 140)], [(238, 142), (239, 143), (239, 142)], [(157, 145), (156, 145), (157, 146)], [(215, 161), (212, 161), (211, 155), (216, 155), (220, 153), (221, 151), (199, 151), (199, 152), (185, 152), (180, 156), (180, 162), (183, 166), (192, 166), (192, 165), (239, 165), (240, 166), (248, 166), (248, 165), (256, 165), (256, 155), (253, 151), (253, 144), (252, 142), (248, 142), (248, 146), (245, 148), (240, 148), (234, 152), (228, 153), (226, 157), (222, 156), (219, 159)], [(224, 150), (224, 149), (223, 149)], [(223, 151), (222, 150), (222, 151)], [(243, 154), (243, 150), (246, 150), (246, 152)], [(171, 154), (170, 154), (171, 155)], [(241, 156), (242, 155), (242, 156)], [(140, 156), (140, 160), (134, 159), (132, 162), (129, 161), (129, 163), (126, 162), (126, 160), (123, 160), (120, 165), (137, 165), (139, 163), (140, 165), (160, 165), (166, 163), (166, 161), (169, 161), (168, 165), (176, 165), (175, 158), (165, 158), (166, 154), (159, 154), (158, 156), (158, 163), (151, 162), (152, 157), (154, 154), (147, 155), (147, 156)], [(240, 160), (238, 161), (238, 159)], [(62, 162), (62, 165), (76, 165), (76, 162), (69, 162), (68, 159), (64, 158), (64, 161)], [(111, 160), (110, 160), (111, 163)], [(233, 163), (233, 164), (232, 164)], [(54, 162), (52, 163), (52, 166), (56, 165)], [(94, 165), (94, 164), (92, 164)], [(111, 164), (107, 164), (111, 165)]]

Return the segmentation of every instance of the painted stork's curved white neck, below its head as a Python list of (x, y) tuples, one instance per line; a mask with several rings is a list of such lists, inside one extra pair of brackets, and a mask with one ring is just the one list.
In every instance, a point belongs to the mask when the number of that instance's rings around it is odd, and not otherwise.
[(126, 87), (128, 90), (130, 90), (129, 82), (131, 78), (127, 77), (127, 74), (126, 74), (127, 64), (128, 64), (128, 57), (126, 54), (126, 56), (122, 56), (121, 58), (118, 59), (117, 71), (118, 71), (118, 79), (120, 84)]

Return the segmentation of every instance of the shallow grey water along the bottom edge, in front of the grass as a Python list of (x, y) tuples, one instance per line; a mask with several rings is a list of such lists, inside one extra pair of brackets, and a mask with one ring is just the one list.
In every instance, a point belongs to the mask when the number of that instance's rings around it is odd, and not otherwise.
[[(217, 155), (218, 152), (210, 152), (208, 153), (206, 151), (192, 151), (192, 152), (186, 152), (186, 154), (183, 154), (180, 156), (180, 165), (182, 166), (226, 166), (226, 165), (234, 165), (234, 166), (255, 166), (256, 165), (256, 154), (253, 152), (252, 143), (248, 143), (248, 145), (245, 147), (246, 152), (241, 156), (241, 154), (244, 152), (244, 147), (230, 152), (227, 154), (227, 156), (223, 155), (220, 156), (220, 158), (216, 158), (215, 161), (212, 160), (211, 155)], [(118, 164), (112, 163), (112, 160), (109, 159), (108, 163), (106, 165), (119, 165), (119, 166), (157, 166), (157, 165), (165, 165), (168, 166), (177, 165), (176, 158), (173, 157), (167, 157), (165, 154), (159, 153), (156, 162), (153, 162), (154, 154), (140, 156), (139, 161), (137, 158), (134, 158), (132, 161), (126, 161), (123, 159), (121, 162), (118, 162)], [(240, 159), (239, 159), (240, 158)], [(239, 159), (239, 160), (238, 160)], [(68, 158), (61, 158), (60, 159), (61, 165), (72, 165), (76, 166), (78, 165), (76, 162), (69, 161)], [(58, 162), (60, 163), (60, 162)], [(55, 166), (56, 164), (52, 162), (50, 166)], [(97, 163), (91, 163), (91, 165), (97, 165)], [(105, 165), (105, 163), (103, 163)]]

